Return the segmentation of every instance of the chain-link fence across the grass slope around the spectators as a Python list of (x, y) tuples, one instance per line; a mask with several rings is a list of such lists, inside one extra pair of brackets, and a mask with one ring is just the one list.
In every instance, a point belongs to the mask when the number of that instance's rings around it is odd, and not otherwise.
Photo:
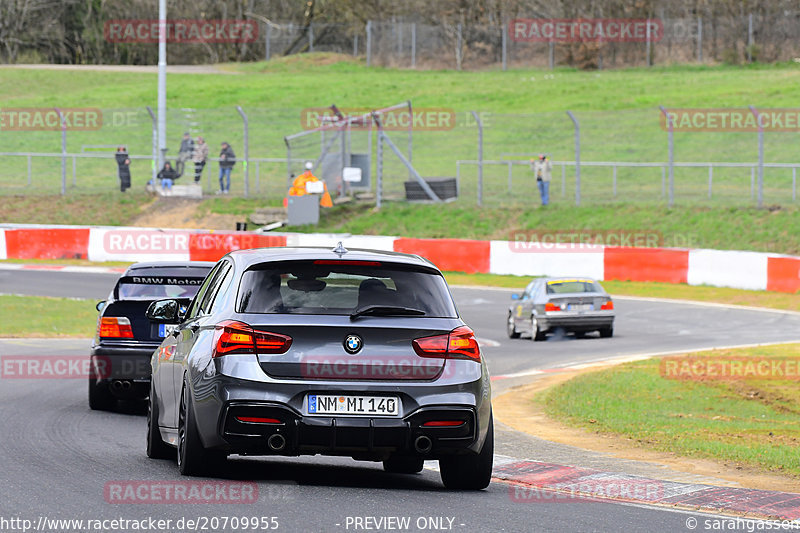
[[(237, 155), (231, 194), (269, 201), (283, 198), (292, 175), (302, 172), (302, 164), (311, 160), (322, 165), (318, 171), (334, 196), (380, 192), (384, 201), (405, 201), (406, 183), (416, 181), (416, 172), (426, 179), (457, 178), (457, 201), (465, 205), (530, 204), (538, 201), (530, 159), (539, 153), (554, 162), (554, 203), (574, 205), (578, 192), (581, 205), (757, 205), (759, 190), (762, 205), (797, 200), (798, 131), (768, 129), (763, 133), (764, 164), (759, 171), (757, 131), (678, 128), (670, 172), (669, 132), (658, 108), (574, 112), (580, 126), (580, 165), (576, 164), (575, 127), (565, 112), (473, 114), (413, 106), (398, 109), (394, 116), (384, 115), (384, 134), (402, 158), (388, 142), (381, 146), (374, 124), (351, 124), (338, 133), (335, 128), (315, 131), (308, 110), (299, 109), (244, 108), (249, 123), (245, 150), (244, 123), (235, 107), (171, 110), (172, 142), (166, 158), (174, 162), (183, 132), (193, 138), (203, 136), (210, 157), (201, 184), (204, 194), (213, 194), (219, 188), (216, 156), (221, 142), (228, 142)], [(368, 111), (345, 110), (345, 114)], [(146, 109), (110, 109), (102, 115), (101, 127), (67, 131), (63, 153), (62, 133), (57, 129), (0, 131), (4, 147), (0, 194), (59, 194), (62, 187), (66, 194), (118, 189), (114, 152), (119, 145), (127, 146), (131, 154), (133, 187), (143, 189), (154, 170), (149, 113)], [(480, 136), (476, 116), (482, 124)], [(287, 145), (285, 137), (292, 134), (299, 136)], [(380, 166), (379, 147), (383, 150)], [(249, 153), (247, 160), (245, 153)], [(366, 170), (361, 187), (351, 188), (342, 181), (345, 166)], [(193, 168), (188, 163), (176, 184), (192, 181)]]

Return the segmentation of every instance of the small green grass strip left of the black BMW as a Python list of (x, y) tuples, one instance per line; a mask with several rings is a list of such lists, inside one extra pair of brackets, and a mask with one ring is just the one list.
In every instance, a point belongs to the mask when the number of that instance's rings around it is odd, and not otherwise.
[(91, 337), (94, 300), (0, 295), (0, 337)]

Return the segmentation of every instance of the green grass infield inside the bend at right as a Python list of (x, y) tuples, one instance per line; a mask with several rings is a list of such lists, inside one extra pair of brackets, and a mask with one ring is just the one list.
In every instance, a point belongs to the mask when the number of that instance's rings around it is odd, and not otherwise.
[[(787, 344), (691, 354), (698, 358), (794, 359)], [(548, 416), (637, 446), (756, 466), (800, 477), (797, 381), (667, 379), (660, 359), (577, 376), (540, 393)]]

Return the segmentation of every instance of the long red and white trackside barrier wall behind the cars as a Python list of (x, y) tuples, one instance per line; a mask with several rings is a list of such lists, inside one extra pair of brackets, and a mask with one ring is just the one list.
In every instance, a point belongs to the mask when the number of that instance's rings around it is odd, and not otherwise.
[(421, 255), (442, 270), (517, 276), (589, 276), (797, 292), (800, 257), (759, 252), (560, 245), (378, 235), (257, 234), (185, 229), (7, 225), (0, 259), (217, 261), (231, 250), (273, 246), (388, 250)]

